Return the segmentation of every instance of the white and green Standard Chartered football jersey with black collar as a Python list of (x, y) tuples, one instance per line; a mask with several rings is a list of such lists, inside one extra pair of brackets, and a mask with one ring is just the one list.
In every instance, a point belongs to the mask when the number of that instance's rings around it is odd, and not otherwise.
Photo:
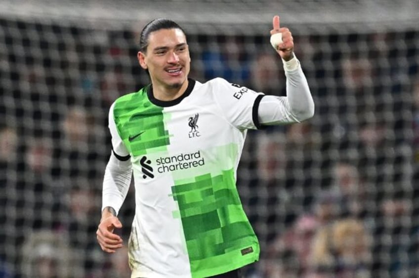
[(135, 181), (132, 277), (208, 277), (258, 260), (236, 170), (262, 96), (190, 79), (175, 101), (156, 100), (148, 86), (113, 104), (123, 142), (114, 138), (114, 150), (129, 154)]

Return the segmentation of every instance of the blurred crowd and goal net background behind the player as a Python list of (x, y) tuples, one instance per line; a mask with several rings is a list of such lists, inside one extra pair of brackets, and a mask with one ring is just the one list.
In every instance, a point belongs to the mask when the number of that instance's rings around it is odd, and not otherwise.
[(138, 33), (174, 19), (193, 78), (283, 95), (275, 14), (316, 114), (249, 132), (238, 188), (262, 254), (246, 277), (417, 277), (417, 0), (2, 0), (0, 277), (129, 277), (95, 231), (109, 106), (148, 83)]

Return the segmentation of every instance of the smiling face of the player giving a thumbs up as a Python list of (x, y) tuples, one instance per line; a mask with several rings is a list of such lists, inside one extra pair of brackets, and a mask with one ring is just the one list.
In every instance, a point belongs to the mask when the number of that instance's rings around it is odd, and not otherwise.
[(185, 34), (179, 29), (161, 29), (149, 35), (147, 52), (138, 61), (148, 69), (153, 84), (180, 88), (188, 77), (191, 58)]

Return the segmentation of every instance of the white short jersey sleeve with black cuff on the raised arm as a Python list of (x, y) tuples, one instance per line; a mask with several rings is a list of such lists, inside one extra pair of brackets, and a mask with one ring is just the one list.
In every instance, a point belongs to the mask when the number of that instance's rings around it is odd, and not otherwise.
[(239, 129), (260, 128), (258, 106), (264, 96), (247, 87), (229, 83), (222, 78), (214, 79), (215, 99), (226, 119)]

